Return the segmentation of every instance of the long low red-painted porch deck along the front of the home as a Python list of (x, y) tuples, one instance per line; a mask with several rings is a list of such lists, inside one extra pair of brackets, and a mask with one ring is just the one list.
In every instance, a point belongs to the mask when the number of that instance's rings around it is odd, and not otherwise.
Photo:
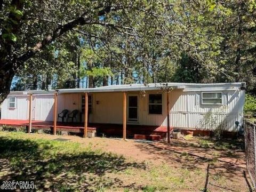
[[(28, 126), (28, 120), (17, 120), (17, 119), (0, 119), (0, 125), (8, 126)], [(32, 121), (32, 129), (52, 129), (52, 121)], [(171, 127), (173, 129), (173, 127)], [(83, 132), (84, 125), (81, 123), (62, 123), (57, 122), (58, 131), (69, 131), (69, 132)], [(87, 130), (97, 130), (97, 134), (105, 134), (107, 137), (117, 136), (122, 137), (123, 125), (118, 124), (91, 124), (87, 127)], [(127, 125), (126, 135), (127, 137), (133, 138), (134, 134), (141, 135), (161, 135), (165, 137), (167, 133), (166, 126), (147, 126), (147, 125)]]

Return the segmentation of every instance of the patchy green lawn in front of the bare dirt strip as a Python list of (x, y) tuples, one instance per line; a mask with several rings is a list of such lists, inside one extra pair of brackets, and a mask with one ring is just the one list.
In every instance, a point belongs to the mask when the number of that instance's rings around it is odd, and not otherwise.
[[(39, 190), (175, 191), (187, 189), (196, 174), (166, 163), (137, 163), (122, 155), (92, 149), (93, 143), (29, 139), (21, 132), (0, 132), (1, 180), (33, 180)], [(96, 144), (97, 145), (97, 144)], [(187, 154), (184, 157), (187, 157)], [(182, 155), (181, 155), (182, 156)]]

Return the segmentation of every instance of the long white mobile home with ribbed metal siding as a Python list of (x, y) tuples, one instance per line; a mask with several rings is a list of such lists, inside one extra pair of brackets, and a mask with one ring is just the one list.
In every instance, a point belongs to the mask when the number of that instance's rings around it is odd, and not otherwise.
[[(92, 89), (11, 92), (2, 104), (2, 119), (54, 121), (54, 95), (57, 114), (78, 110), (76, 122), (84, 122), (85, 93), (88, 95), (89, 124), (123, 124), (123, 95), (126, 95), (126, 124), (170, 126), (178, 129), (237, 131), (242, 124), (245, 83), (153, 83), (110, 85)], [(169, 106), (167, 106), (169, 95)], [(167, 109), (169, 108), (169, 112)], [(62, 121), (58, 118), (58, 121)], [(64, 121), (67, 121), (67, 119)], [(68, 120), (70, 121), (70, 119)], [(0, 122), (1, 124), (1, 122)], [(139, 129), (139, 128), (136, 128)]]

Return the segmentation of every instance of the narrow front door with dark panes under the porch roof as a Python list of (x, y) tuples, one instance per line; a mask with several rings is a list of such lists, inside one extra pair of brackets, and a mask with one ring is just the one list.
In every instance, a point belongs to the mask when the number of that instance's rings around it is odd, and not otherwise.
[(128, 98), (128, 121), (138, 122), (138, 96), (129, 95)]

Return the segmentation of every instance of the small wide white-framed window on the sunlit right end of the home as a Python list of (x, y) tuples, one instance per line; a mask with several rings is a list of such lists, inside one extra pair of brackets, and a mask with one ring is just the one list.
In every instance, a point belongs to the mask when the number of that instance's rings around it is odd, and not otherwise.
[(204, 92), (204, 93), (202, 93), (202, 104), (221, 105), (222, 104), (222, 93), (221, 92)]

